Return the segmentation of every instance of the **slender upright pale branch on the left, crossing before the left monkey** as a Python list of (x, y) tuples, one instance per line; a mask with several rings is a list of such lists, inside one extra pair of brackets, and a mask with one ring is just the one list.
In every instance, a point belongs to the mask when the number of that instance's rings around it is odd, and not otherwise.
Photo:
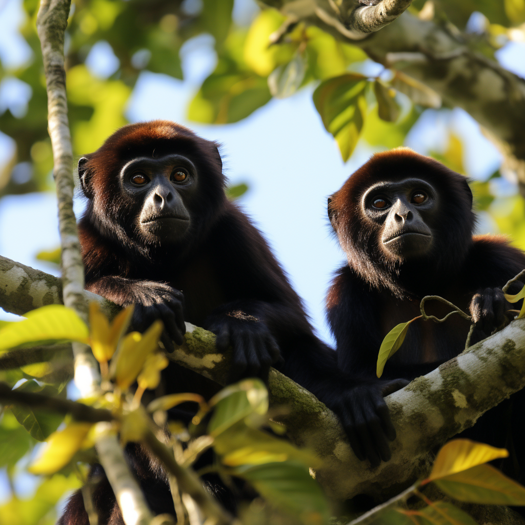
[[(64, 39), (70, 4), (70, 0), (40, 0), (36, 25), (44, 61), (48, 130), (53, 148), (53, 175), (57, 187), (62, 249), (62, 299), (65, 306), (74, 309), (87, 322), (88, 303), (84, 293), (84, 265), (77, 221), (73, 212), (75, 189), (72, 170), (73, 152), (67, 118), (64, 69)], [(22, 272), (18, 271), (20, 277)], [(82, 396), (90, 396), (100, 389), (98, 363), (87, 345), (72, 343), (72, 348), (75, 355), (75, 384)], [(117, 437), (112, 433), (101, 433), (96, 440), (96, 447), (100, 463), (106, 471), (126, 525), (149, 525), (152, 514), (124, 459)]]

